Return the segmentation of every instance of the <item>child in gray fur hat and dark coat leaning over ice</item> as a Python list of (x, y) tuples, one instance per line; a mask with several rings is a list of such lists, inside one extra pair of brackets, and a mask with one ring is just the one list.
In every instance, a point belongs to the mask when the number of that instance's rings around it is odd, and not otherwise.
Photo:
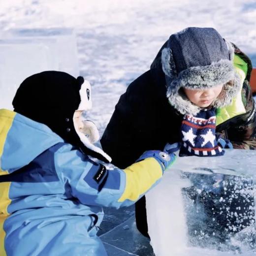
[[(122, 168), (166, 142), (181, 142), (180, 156), (221, 156), (225, 146), (255, 150), (251, 71), (250, 59), (213, 28), (172, 34), (120, 97), (102, 148)], [(148, 236), (145, 197), (135, 206), (137, 227)]]

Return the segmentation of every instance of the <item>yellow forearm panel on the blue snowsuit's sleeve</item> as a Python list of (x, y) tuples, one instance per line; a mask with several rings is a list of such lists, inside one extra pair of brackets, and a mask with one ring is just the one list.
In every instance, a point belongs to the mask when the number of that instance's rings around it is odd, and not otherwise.
[(133, 163), (126, 169), (126, 188), (118, 202), (136, 201), (162, 177), (162, 168), (154, 158)]

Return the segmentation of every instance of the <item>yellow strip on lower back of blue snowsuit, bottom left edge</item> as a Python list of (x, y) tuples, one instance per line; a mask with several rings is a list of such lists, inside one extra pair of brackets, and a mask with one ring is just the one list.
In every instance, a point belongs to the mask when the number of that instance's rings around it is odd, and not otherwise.
[(3, 223), (5, 219), (9, 216), (7, 212), (7, 207), (11, 203), (11, 199), (9, 198), (9, 190), (10, 190), (10, 182), (1, 182), (0, 183), (0, 255), (6, 256), (4, 250), (4, 238), (5, 231), (3, 229)]

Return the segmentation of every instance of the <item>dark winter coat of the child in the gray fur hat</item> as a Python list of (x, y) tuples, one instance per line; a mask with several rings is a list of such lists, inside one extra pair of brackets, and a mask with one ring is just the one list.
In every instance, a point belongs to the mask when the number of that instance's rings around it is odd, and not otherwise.
[[(160, 52), (151, 69), (134, 80), (120, 97), (101, 138), (103, 150), (119, 168), (128, 167), (147, 150), (163, 150), (167, 142), (181, 141), (183, 115), (168, 103)], [(248, 82), (252, 64), (237, 47), (235, 54), (248, 64), (242, 89), (246, 113), (225, 121), (216, 131), (228, 138), (234, 148), (256, 149), (255, 102)], [(135, 210), (137, 228), (148, 236), (145, 196), (136, 202)]]

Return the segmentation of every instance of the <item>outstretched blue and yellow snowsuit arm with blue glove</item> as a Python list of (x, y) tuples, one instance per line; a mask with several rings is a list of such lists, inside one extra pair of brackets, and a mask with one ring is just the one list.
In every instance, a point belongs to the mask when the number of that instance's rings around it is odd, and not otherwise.
[(56, 152), (55, 166), (70, 197), (86, 205), (119, 208), (133, 204), (155, 186), (174, 160), (174, 154), (147, 151), (124, 170), (108, 170), (67, 144)]

